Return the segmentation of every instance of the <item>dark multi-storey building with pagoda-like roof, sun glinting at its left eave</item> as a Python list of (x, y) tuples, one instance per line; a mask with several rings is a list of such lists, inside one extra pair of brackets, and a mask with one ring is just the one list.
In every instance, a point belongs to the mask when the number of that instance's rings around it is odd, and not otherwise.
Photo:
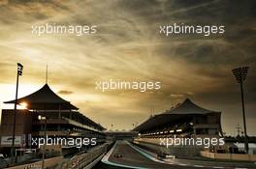
[[(16, 100), (4, 103), (15, 103)], [(16, 148), (28, 148), (31, 137), (87, 137), (105, 138), (102, 127), (82, 115), (70, 101), (61, 99), (45, 84), (40, 90), (26, 97), (17, 99), (18, 104), (26, 104), (25, 110), (16, 112)], [(42, 120), (47, 117), (47, 121)], [(2, 110), (1, 144), (3, 151), (9, 152), (12, 147), (14, 110)], [(73, 149), (63, 145), (62, 149)]]

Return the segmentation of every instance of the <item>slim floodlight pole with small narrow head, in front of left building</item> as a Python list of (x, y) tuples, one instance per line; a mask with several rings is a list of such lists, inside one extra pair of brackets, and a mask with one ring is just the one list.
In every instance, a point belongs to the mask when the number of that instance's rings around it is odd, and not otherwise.
[[(15, 112), (14, 112), (14, 127), (13, 127), (13, 138), (12, 138), (12, 160), (15, 157), (15, 139), (16, 139), (16, 104), (17, 104), (17, 90), (18, 90), (18, 76), (22, 75), (23, 66), (20, 63), (17, 63), (16, 71), (16, 102), (15, 102)], [(16, 160), (14, 160), (16, 162)]]

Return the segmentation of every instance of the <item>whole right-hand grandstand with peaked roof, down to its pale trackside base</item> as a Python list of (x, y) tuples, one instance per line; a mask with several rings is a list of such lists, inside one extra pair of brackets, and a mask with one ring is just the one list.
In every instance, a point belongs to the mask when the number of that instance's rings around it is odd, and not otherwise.
[[(190, 99), (185, 99), (170, 110), (151, 116), (143, 124), (135, 127), (133, 131), (139, 132), (135, 142), (165, 154), (199, 155), (204, 146), (176, 146), (178, 149), (170, 151), (159, 148), (160, 140), (176, 137), (218, 139), (223, 136), (220, 118), (221, 112), (202, 108)], [(220, 146), (210, 146), (212, 152), (220, 149)]]

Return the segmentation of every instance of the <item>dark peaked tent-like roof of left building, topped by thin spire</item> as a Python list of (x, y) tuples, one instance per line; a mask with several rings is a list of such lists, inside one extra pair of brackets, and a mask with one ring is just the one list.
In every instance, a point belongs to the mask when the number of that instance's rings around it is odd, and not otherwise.
[[(5, 101), (4, 103), (15, 103), (16, 99)], [(25, 102), (27, 104), (27, 109), (61, 109), (61, 110), (78, 110), (79, 108), (72, 105), (70, 101), (60, 98), (57, 96), (48, 86), (45, 84), (38, 91), (17, 99), (17, 103), (20, 104)]]

